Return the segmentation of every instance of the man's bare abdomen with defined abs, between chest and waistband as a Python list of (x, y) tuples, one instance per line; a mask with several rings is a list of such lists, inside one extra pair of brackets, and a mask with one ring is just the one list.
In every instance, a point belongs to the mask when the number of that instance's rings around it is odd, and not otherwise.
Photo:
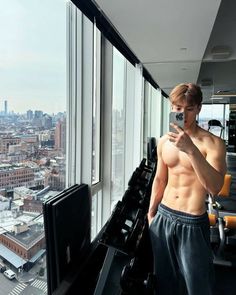
[(169, 179), (161, 203), (171, 209), (193, 215), (206, 212), (206, 191), (192, 171), (176, 175), (169, 169)]

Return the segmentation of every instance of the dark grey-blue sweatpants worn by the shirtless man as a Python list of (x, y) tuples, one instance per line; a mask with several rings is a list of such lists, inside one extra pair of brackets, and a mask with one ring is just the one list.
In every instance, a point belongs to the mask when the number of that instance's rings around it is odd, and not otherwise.
[(207, 213), (192, 215), (160, 204), (149, 231), (158, 295), (213, 294), (214, 267)]

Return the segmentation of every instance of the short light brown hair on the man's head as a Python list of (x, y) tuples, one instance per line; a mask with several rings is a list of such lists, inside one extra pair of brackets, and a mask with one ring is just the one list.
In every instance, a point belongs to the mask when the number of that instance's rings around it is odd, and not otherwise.
[(171, 91), (170, 101), (172, 104), (176, 104), (179, 101), (186, 101), (191, 105), (201, 105), (202, 103), (202, 91), (201, 88), (193, 83), (182, 83)]

